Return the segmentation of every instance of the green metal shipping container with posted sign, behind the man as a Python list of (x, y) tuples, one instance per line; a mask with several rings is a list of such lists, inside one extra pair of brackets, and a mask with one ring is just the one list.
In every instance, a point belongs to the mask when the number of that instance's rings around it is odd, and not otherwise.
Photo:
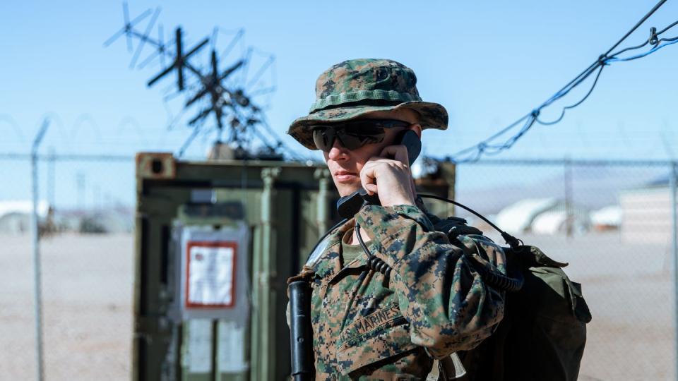
[[(338, 221), (338, 195), (326, 167), (181, 162), (171, 154), (140, 153), (136, 179), (132, 379), (287, 380), (286, 281), (319, 236)], [(211, 195), (213, 205), (240, 205), (242, 216), (196, 201), (198, 194)], [(195, 207), (196, 202), (205, 205)], [(172, 317), (179, 299), (173, 276), (179, 265), (172, 241), (175, 226), (224, 226), (237, 220), (249, 226), (251, 284), (238, 285), (249, 289), (249, 325), (237, 330), (219, 319)], [(239, 341), (242, 353), (231, 353)], [(244, 359), (246, 369), (222, 369), (224, 359), (234, 356)]]

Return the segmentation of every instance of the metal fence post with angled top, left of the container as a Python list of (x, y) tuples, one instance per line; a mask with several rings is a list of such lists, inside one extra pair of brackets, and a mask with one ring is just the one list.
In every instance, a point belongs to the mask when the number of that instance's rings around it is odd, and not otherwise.
[(30, 164), (32, 172), (32, 198), (33, 198), (33, 213), (32, 213), (32, 239), (33, 239), (33, 291), (34, 306), (35, 306), (35, 362), (37, 365), (36, 379), (42, 381), (44, 379), (44, 366), (42, 360), (42, 279), (40, 274), (40, 223), (37, 217), (37, 148), (40, 146), (40, 141), (47, 131), (49, 120), (45, 119), (42, 122), (40, 131), (37, 132), (35, 140), (33, 140), (32, 150), (30, 152)]

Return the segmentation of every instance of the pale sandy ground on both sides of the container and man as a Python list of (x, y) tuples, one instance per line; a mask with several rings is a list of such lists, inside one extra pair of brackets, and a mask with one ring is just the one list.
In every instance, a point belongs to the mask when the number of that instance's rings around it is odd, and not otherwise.
[[(35, 377), (30, 236), (0, 236), (0, 380)], [(523, 237), (583, 284), (593, 313), (580, 380), (670, 380), (674, 291), (665, 246), (616, 234)], [(133, 237), (42, 241), (46, 379), (129, 380)]]

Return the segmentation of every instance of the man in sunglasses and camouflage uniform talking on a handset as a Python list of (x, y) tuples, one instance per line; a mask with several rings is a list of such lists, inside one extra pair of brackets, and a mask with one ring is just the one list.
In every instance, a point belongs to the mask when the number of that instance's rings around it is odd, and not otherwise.
[(418, 152), (400, 139), (445, 130), (448, 114), (416, 84), (396, 61), (343, 61), (320, 75), (316, 102), (288, 131), (323, 151), (341, 196), (378, 198), (331, 231), (297, 277), (312, 288), (316, 380), (423, 380), (434, 359), (475, 348), (504, 316), (505, 292), (477, 268), (506, 274), (504, 251), (483, 236), (451, 242), (417, 197)]

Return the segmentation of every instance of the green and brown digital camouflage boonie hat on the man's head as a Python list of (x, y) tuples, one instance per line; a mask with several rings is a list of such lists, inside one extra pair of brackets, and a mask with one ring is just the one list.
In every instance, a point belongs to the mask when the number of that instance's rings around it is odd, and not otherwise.
[(447, 111), (440, 104), (422, 102), (412, 69), (389, 59), (351, 59), (320, 75), (309, 115), (293, 121), (287, 133), (316, 150), (310, 126), (397, 109), (417, 111), (422, 128), (447, 128)]

